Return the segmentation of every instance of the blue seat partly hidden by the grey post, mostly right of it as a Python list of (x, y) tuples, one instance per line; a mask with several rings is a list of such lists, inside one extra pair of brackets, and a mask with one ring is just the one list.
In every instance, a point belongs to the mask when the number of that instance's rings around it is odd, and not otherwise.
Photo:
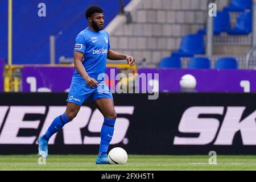
[[(230, 15), (226, 11), (217, 11), (217, 16), (214, 17), (213, 31), (214, 35), (219, 35), (222, 31), (230, 30)], [(199, 30), (198, 34), (205, 34), (206, 28)]]

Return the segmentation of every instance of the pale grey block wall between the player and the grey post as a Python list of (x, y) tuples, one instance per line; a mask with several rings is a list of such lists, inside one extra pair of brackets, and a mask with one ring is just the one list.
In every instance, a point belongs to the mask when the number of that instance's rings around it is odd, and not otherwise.
[[(221, 2), (222, 4), (222, 2)], [(126, 6), (133, 18), (126, 23), (118, 15), (106, 27), (112, 48), (136, 57), (138, 67), (146, 59), (147, 68), (158, 67), (162, 57), (179, 49), (181, 39), (188, 34), (197, 34), (206, 22), (205, 0), (146, 0), (134, 1)]]

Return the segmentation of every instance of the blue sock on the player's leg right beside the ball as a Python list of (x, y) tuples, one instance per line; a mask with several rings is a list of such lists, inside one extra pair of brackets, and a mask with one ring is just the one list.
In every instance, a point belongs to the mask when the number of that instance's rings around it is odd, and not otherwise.
[(112, 140), (114, 134), (115, 119), (104, 118), (104, 123), (101, 127), (101, 144), (99, 155), (107, 154), (109, 143)]

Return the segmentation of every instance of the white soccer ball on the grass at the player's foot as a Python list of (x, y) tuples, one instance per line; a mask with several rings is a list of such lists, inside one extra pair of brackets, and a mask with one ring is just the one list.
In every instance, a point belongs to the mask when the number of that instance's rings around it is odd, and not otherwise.
[(128, 156), (123, 148), (115, 147), (109, 151), (108, 158), (110, 164), (125, 164)]

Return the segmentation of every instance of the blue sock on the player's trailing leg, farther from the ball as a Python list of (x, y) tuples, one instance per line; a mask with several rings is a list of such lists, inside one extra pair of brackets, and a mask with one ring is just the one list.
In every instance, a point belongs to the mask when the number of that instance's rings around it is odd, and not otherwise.
[(69, 119), (64, 114), (59, 115), (56, 117), (51, 125), (48, 127), (48, 130), (46, 131), (46, 134), (44, 134), (43, 139), (49, 140), (53, 134), (55, 134), (57, 131), (60, 131), (65, 124), (69, 122)]

